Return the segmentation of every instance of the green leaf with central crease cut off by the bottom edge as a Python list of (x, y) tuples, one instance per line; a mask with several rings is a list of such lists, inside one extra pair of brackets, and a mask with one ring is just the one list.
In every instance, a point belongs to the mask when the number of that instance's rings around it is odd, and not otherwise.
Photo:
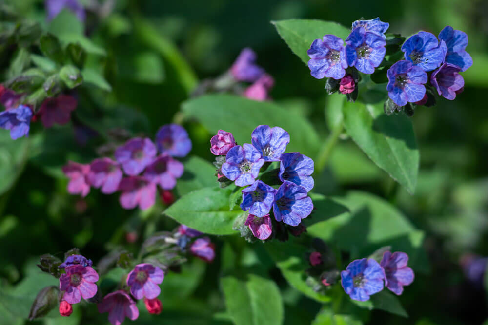
[(247, 280), (232, 276), (221, 278), (225, 305), (236, 325), (281, 325), (284, 320), (283, 301), (276, 284), (249, 274)]

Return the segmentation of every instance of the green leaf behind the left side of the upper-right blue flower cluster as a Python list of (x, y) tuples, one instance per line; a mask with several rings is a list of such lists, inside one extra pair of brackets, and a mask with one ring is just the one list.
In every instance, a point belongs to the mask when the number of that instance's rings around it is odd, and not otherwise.
[(332, 34), (343, 40), (351, 32), (349, 28), (344, 27), (336, 22), (315, 20), (315, 19), (287, 19), (272, 21), (275, 25), (278, 34), (288, 44), (290, 49), (298, 57), (308, 63), (306, 51), (316, 38), (323, 38), (324, 35)]

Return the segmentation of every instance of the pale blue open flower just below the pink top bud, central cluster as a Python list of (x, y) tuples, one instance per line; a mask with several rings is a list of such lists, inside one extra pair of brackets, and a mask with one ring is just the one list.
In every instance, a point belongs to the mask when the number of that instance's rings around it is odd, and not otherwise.
[(259, 170), (264, 164), (261, 153), (252, 145), (244, 143), (229, 150), (222, 164), (222, 173), (237, 186), (246, 186), (254, 183)]

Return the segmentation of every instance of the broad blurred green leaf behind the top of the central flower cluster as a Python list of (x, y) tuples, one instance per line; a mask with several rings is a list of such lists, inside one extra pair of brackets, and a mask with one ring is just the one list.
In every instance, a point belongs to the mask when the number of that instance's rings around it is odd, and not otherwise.
[(314, 157), (319, 137), (301, 115), (270, 102), (232, 95), (206, 95), (183, 103), (186, 117), (197, 118), (212, 134), (219, 129), (232, 132), (237, 143), (251, 143), (251, 132), (260, 124), (279, 126), (290, 134), (286, 152), (301, 152)]

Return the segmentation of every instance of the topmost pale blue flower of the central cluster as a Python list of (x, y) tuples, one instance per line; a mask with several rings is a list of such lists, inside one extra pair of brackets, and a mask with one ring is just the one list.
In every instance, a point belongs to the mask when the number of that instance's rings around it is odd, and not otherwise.
[(279, 126), (260, 125), (251, 133), (251, 142), (265, 161), (280, 161), (281, 154), (290, 143), (290, 135)]

